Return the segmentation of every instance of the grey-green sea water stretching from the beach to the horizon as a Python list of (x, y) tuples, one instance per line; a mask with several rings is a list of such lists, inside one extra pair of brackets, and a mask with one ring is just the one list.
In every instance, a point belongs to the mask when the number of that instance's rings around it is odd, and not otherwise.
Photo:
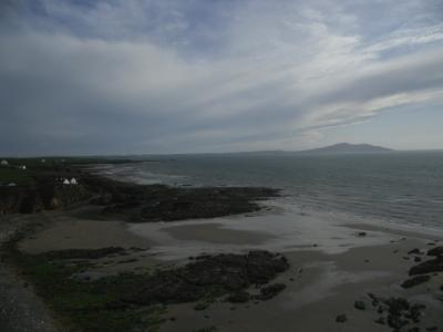
[(443, 152), (145, 158), (103, 170), (141, 184), (274, 187), (282, 190), (287, 204), (443, 228)]

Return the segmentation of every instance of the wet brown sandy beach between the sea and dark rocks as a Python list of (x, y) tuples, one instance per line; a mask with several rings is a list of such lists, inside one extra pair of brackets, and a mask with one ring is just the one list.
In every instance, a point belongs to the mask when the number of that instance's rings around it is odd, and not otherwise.
[[(146, 266), (179, 266), (202, 253), (262, 249), (287, 257), (290, 269), (275, 280), (287, 288), (274, 299), (239, 304), (215, 301), (202, 311), (195, 310), (195, 303), (171, 304), (159, 328), (165, 332), (210, 326), (216, 331), (392, 331), (374, 322), (380, 314), (368, 293), (424, 304), (425, 317), (410, 328), (443, 329), (443, 294), (437, 291), (442, 274), (410, 289), (400, 286), (416, 264), (409, 252), (441, 246), (440, 234), (364, 224), (344, 215), (300, 212), (299, 208), (295, 214), (278, 203), (274, 207), (274, 211), (247, 216), (148, 224), (79, 220), (50, 212), (48, 227), (22, 240), (20, 249), (27, 253), (107, 246), (144, 249), (124, 259), (99, 260), (90, 271), (96, 278)], [(356, 309), (356, 301), (362, 301), (364, 310)], [(340, 314), (347, 315), (344, 323), (336, 322)]]

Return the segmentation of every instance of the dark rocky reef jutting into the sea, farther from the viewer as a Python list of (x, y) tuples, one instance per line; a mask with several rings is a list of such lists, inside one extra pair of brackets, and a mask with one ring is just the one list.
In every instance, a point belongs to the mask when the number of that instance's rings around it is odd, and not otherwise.
[(177, 188), (133, 185), (87, 177), (90, 190), (100, 193), (91, 203), (103, 206), (103, 215), (120, 215), (132, 222), (215, 218), (259, 210), (256, 203), (278, 196), (262, 187)]

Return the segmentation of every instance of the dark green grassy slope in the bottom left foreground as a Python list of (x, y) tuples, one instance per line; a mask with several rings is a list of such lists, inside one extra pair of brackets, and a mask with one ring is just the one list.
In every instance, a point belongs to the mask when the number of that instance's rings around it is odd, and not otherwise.
[(126, 273), (83, 282), (72, 274), (91, 268), (87, 261), (73, 263), (69, 259), (52, 260), (44, 253), (25, 255), (16, 248), (16, 242), (8, 243), (3, 251), (7, 261), (18, 268), (63, 325), (73, 331), (157, 331), (164, 321), (164, 305), (128, 305), (121, 300), (125, 292), (142, 284), (143, 274)]

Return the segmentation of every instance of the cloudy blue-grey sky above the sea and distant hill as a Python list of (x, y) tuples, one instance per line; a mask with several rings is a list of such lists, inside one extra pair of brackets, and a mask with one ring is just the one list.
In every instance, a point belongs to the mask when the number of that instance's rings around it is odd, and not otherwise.
[(443, 148), (441, 0), (2, 0), (0, 155)]

